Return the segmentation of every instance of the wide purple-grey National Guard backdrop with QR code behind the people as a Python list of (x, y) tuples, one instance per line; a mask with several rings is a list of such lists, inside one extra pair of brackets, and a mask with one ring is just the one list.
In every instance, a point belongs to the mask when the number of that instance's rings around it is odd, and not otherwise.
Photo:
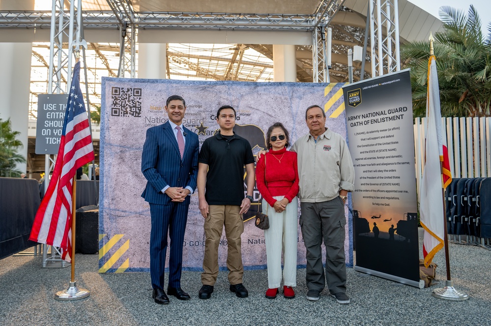
[[(140, 197), (146, 184), (141, 173), (141, 151), (146, 130), (168, 119), (164, 110), (168, 96), (180, 95), (186, 100), (183, 124), (198, 135), (200, 145), (219, 129), (215, 120), (218, 107), (232, 105), (237, 110), (234, 131), (250, 142), (255, 155), (265, 148), (265, 133), (275, 122), (283, 123), (289, 130), (292, 144), (306, 134), (305, 109), (312, 104), (325, 107), (327, 127), (346, 137), (343, 85), (103, 78), (99, 271), (149, 271), (150, 208)], [(251, 220), (261, 200), (257, 189), (253, 197), (244, 217), (242, 235), (246, 269), (266, 268), (264, 232)], [(348, 208), (346, 217), (349, 226), (346, 228), (346, 263), (353, 266), (352, 219)], [(203, 223), (195, 192), (191, 196), (184, 241), (185, 270), (201, 270), (205, 241)], [(298, 264), (304, 266), (305, 247), (300, 228), (298, 246)], [(224, 269), (226, 250), (223, 234), (218, 263)]]

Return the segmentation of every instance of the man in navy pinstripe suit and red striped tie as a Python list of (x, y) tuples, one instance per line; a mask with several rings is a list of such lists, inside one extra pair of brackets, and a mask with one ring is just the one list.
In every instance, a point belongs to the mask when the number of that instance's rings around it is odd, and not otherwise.
[(177, 95), (166, 101), (169, 120), (147, 130), (141, 155), (141, 172), (147, 179), (141, 197), (150, 204), (150, 277), (152, 297), (169, 303), (164, 292), (167, 234), (170, 237), (169, 282), (167, 294), (179, 300), (191, 297), (181, 289), (184, 232), (190, 196), (196, 189), (198, 136), (182, 124), (185, 100)]

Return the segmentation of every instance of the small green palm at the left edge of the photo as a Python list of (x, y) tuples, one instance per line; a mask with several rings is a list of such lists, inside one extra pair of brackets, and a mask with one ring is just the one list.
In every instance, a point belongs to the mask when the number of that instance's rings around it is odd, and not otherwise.
[(26, 159), (17, 153), (23, 148), (22, 142), (16, 137), (19, 131), (12, 131), (10, 119), (0, 119), (0, 176), (20, 176), (16, 168), (18, 163), (26, 163)]

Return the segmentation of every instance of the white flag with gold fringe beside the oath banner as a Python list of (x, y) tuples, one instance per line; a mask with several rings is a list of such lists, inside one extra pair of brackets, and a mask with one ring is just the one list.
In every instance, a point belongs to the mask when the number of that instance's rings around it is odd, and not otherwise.
[[(435, 56), (432, 55), (428, 61), (425, 164), (419, 192), (420, 220), (425, 230), (423, 256), (426, 267), (430, 265), (436, 252), (443, 248), (445, 212), (443, 211), (441, 189), (452, 181), (447, 141), (441, 126), (440, 94), (435, 60)], [(442, 172), (440, 172), (440, 162)]]

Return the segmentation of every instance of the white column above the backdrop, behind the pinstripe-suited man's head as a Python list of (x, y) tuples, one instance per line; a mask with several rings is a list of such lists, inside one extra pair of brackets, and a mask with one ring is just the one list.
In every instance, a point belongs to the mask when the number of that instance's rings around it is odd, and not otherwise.
[(165, 79), (166, 44), (138, 44), (138, 78)]

